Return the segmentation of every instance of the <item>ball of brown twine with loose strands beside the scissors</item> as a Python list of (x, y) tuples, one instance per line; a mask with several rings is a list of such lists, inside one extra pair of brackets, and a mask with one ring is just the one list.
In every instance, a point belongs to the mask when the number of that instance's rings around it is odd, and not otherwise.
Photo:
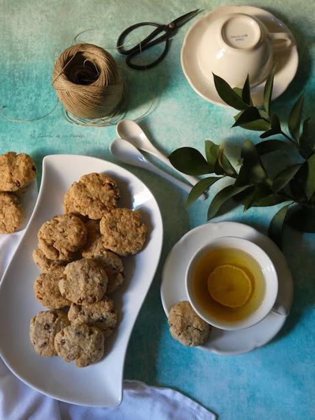
[[(77, 34), (73, 42), (88, 30)], [(141, 52), (140, 40), (139, 45)], [(146, 73), (153, 90), (153, 99), (149, 108), (135, 121), (149, 114), (156, 99), (153, 79), (148, 71)], [(127, 113), (127, 83), (121, 77), (112, 55), (97, 45), (80, 42), (64, 50), (55, 62), (51, 83), (58, 100), (49, 112), (34, 119), (11, 119), (3, 111), (5, 107), (0, 106), (2, 116), (14, 123), (38, 121), (49, 116), (55, 109), (60, 114), (58, 105), (62, 103), (62, 115), (69, 123), (103, 127), (115, 125)]]

